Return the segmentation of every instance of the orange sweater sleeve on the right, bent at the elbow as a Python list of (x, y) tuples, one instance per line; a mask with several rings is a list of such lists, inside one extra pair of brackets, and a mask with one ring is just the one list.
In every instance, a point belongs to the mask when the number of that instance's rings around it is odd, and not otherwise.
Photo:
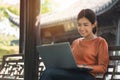
[(92, 72), (104, 74), (109, 63), (108, 44), (105, 39), (100, 40), (97, 56), (98, 65), (93, 65)]

